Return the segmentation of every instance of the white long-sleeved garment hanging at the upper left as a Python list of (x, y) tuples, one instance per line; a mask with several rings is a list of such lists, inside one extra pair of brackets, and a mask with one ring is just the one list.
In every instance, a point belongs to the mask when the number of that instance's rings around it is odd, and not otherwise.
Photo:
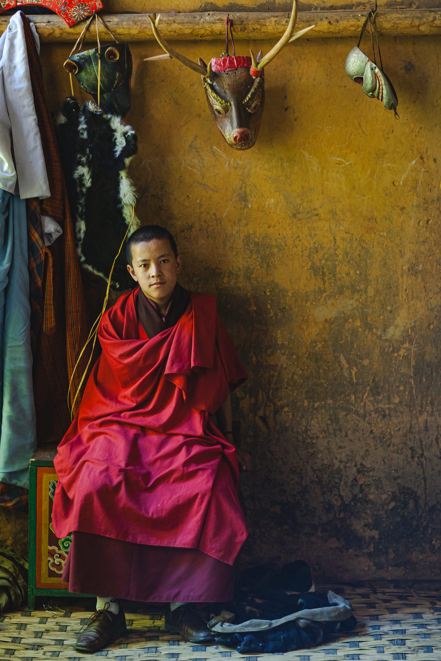
[[(50, 188), (35, 113), (22, 13), (0, 37), (0, 188), (22, 200), (48, 198)], [(30, 24), (38, 53), (40, 39)]]

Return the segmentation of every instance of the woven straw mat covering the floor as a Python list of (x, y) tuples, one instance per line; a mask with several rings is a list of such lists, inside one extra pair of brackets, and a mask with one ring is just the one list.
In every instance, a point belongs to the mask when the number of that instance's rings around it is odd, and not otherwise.
[(165, 632), (161, 613), (128, 608), (127, 638), (95, 654), (80, 654), (73, 650), (73, 644), (91, 614), (85, 610), (91, 608), (90, 600), (43, 600), (44, 609), (15, 611), (0, 617), (0, 661), (80, 661), (88, 657), (112, 661), (276, 661), (280, 656), (293, 661), (441, 661), (440, 590), (398, 590), (374, 584), (368, 588), (332, 588), (350, 600), (358, 627), (309, 650), (247, 656), (220, 646), (194, 645)]

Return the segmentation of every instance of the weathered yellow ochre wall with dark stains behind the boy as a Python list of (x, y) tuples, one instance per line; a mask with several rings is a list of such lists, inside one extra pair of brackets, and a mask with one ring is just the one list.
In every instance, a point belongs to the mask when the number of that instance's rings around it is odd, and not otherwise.
[[(223, 50), (176, 44), (192, 59)], [(198, 75), (131, 44), (130, 172), (137, 214), (175, 234), (182, 284), (218, 295), (249, 372), (234, 396), (253, 457), (241, 563), (440, 579), (441, 46), (381, 40), (395, 120), (346, 76), (354, 45), (288, 46), (266, 69), (259, 139), (236, 152)], [(42, 45), (54, 112), (70, 48)]]

